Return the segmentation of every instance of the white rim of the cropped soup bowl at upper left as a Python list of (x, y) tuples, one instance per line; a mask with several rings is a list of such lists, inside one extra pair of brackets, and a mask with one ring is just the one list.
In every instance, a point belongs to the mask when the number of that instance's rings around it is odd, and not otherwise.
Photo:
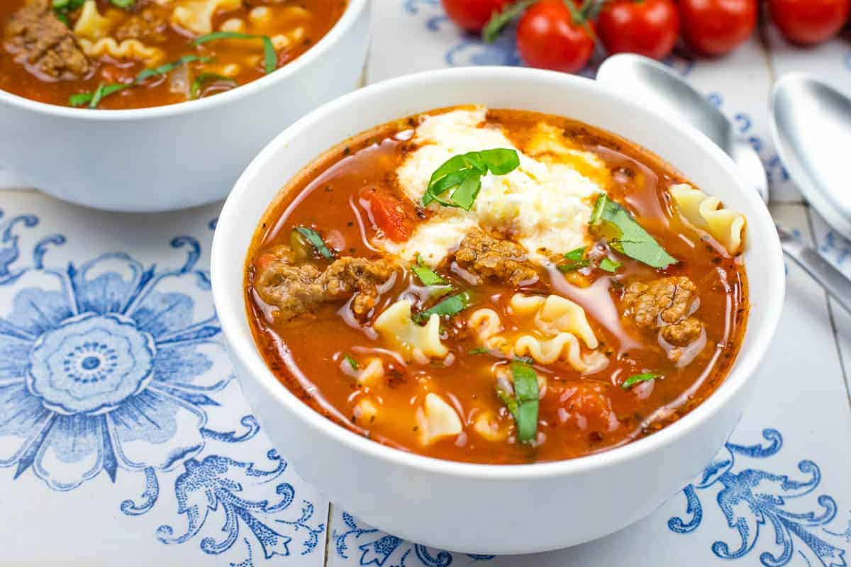
[(73, 108), (71, 106), (53, 105), (38, 100), (27, 99), (20, 94), (9, 93), (0, 89), (0, 103), (17, 106), (22, 110), (37, 112), (48, 116), (60, 118), (82, 119), (93, 122), (134, 121), (157, 118), (168, 118), (206, 111), (220, 105), (226, 105), (231, 101), (244, 99), (264, 89), (271, 88), (277, 82), (286, 81), (303, 67), (311, 65), (313, 60), (322, 57), (335, 43), (354, 26), (360, 14), (367, 8), (370, 0), (346, 0), (346, 11), (340, 16), (340, 20), (328, 30), (320, 40), (311, 48), (301, 54), (295, 60), (283, 65), (274, 72), (232, 88), (225, 93), (216, 94), (205, 99), (185, 100), (172, 105), (146, 106), (142, 108), (130, 108), (121, 110)]

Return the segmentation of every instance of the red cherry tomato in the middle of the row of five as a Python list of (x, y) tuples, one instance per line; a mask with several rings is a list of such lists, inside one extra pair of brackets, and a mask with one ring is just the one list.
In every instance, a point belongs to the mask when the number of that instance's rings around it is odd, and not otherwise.
[(610, 54), (641, 54), (663, 59), (680, 32), (673, 0), (615, 0), (597, 20), (597, 34)]

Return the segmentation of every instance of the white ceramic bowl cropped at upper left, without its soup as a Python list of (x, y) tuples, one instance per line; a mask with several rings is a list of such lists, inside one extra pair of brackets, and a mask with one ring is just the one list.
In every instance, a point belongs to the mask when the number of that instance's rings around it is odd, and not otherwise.
[(0, 169), (87, 207), (149, 212), (227, 195), (283, 128), (357, 88), (369, 0), (298, 59), (208, 99), (127, 111), (47, 105), (0, 90)]

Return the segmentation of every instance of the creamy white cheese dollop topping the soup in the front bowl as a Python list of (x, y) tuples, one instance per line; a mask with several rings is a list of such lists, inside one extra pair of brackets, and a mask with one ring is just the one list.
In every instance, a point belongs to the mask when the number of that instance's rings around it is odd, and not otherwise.
[(407, 242), (380, 241), (380, 247), (406, 260), (419, 252), (427, 264), (435, 266), (467, 232), (479, 227), (510, 235), (532, 259), (546, 264), (552, 254), (590, 243), (591, 207), (604, 189), (580, 173), (580, 168), (599, 172), (595, 179), (605, 179), (605, 164), (580, 150), (562, 152), (563, 159), (549, 151), (545, 161), (534, 159), (513, 145), (501, 128), (485, 124), (486, 114), (487, 109), (477, 107), (427, 116), (414, 133), (413, 142), (419, 147), (397, 169), (399, 185), (412, 200), (420, 201), (431, 174), (450, 157), (469, 151), (517, 150), (520, 167), (507, 175), (483, 176), (470, 211), (432, 202), (428, 208), (434, 216), (420, 224)]

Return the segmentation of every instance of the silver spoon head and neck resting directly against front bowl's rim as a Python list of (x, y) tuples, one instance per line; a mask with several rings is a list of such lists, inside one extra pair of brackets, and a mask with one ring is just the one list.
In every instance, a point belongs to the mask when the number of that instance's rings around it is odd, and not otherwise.
[(727, 152), (762, 201), (768, 202), (768, 179), (757, 152), (748, 142), (736, 136), (733, 124), (726, 116), (677, 73), (641, 55), (618, 54), (603, 62), (597, 71), (597, 81), (628, 89), (630, 97), (682, 116), (683, 120)]

